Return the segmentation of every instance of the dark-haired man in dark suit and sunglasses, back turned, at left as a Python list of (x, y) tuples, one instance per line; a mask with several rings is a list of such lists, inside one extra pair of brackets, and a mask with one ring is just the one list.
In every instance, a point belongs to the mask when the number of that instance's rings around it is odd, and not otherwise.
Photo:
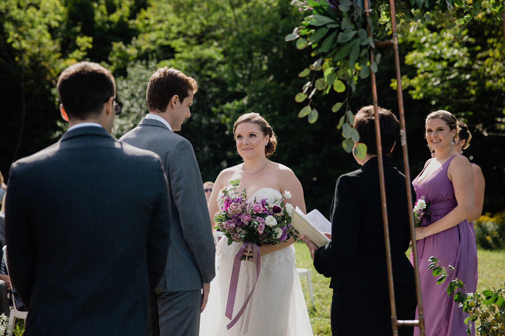
[(170, 240), (160, 157), (111, 137), (121, 105), (103, 66), (74, 64), (57, 88), (68, 131), (9, 174), (7, 257), (29, 310), (24, 335), (143, 335)]

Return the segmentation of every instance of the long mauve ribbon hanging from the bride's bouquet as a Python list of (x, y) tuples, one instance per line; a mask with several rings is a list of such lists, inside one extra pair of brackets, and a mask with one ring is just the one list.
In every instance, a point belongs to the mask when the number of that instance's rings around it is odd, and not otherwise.
[[(233, 316), (233, 307), (235, 306), (235, 297), (237, 295), (237, 286), (238, 286), (238, 275), (240, 274), (240, 258), (242, 258), (243, 252), (245, 250), (245, 246), (248, 246), (248, 250), (250, 251), (252, 245), (252, 258), (256, 264), (256, 281), (254, 286), (252, 286), (251, 292), (249, 296), (245, 299), (244, 304), (238, 311), (237, 315), (232, 319)], [(252, 242), (245, 242), (242, 244), (242, 247), (238, 250), (235, 255), (235, 260), (233, 261), (233, 270), (231, 271), (231, 281), (230, 281), (230, 290), (228, 291), (228, 302), (226, 303), (226, 312), (225, 316), (228, 317), (231, 322), (226, 326), (228, 330), (237, 323), (240, 316), (242, 316), (247, 303), (252, 297), (252, 293), (254, 293), (254, 289), (256, 287), (256, 283), (258, 282), (258, 278), (260, 277), (260, 269), (261, 269), (261, 256), (260, 256), (260, 246), (257, 244), (252, 244)], [(247, 293), (246, 293), (247, 294)], [(247, 321), (248, 322), (248, 321)], [(248, 323), (247, 323), (248, 324)]]

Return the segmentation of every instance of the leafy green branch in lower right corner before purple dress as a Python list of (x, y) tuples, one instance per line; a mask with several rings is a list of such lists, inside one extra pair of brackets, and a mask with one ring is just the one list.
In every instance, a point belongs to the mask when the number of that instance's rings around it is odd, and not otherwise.
[[(434, 256), (429, 258), (429, 261), (431, 263), (428, 265), (428, 268), (432, 270), (431, 273), (435, 277), (440, 276), (437, 280), (437, 285), (443, 283), (447, 276), (454, 279), (447, 285), (447, 295), (450, 296), (454, 294), (454, 301), (459, 303), (459, 307), (462, 308), (465, 313), (470, 314), (470, 316), (465, 319), (465, 324), (468, 324), (468, 334), (470, 334), (471, 322), (480, 319), (480, 325), (477, 327), (477, 331), (479, 331), (481, 335), (505, 335), (504, 288), (498, 290), (493, 288), (492, 291), (485, 290), (482, 292), (482, 295), (480, 293), (468, 293), (463, 281), (452, 275), (454, 271), (453, 266), (449, 265), (450, 272), (447, 272), (447, 269), (442, 266), (440, 261)], [(503, 285), (505, 286), (505, 282)], [(462, 290), (456, 292), (458, 288), (462, 288)], [(466, 293), (463, 293), (463, 291)]]

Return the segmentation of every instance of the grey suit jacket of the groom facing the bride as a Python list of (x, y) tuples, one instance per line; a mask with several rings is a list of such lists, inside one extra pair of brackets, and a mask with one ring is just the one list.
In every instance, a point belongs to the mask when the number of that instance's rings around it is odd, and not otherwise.
[(165, 277), (167, 292), (201, 289), (216, 275), (212, 236), (203, 182), (193, 147), (161, 121), (143, 118), (119, 141), (161, 157), (170, 189), (171, 240)]

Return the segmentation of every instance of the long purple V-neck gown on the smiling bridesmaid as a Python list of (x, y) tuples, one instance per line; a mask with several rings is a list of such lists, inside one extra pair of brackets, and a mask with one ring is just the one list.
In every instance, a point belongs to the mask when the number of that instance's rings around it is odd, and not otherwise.
[[(423, 218), (421, 226), (438, 221), (458, 205), (452, 182), (447, 177), (447, 167), (455, 156), (428, 175), (420, 184), (417, 181), (424, 169), (412, 182), (416, 190), (416, 199), (425, 196), (426, 203), (431, 200), (432, 219)], [(447, 277), (445, 282), (437, 285), (436, 280), (439, 277), (431, 274), (431, 270), (428, 269), (430, 263), (428, 259), (435, 256), (447, 270), (449, 270), (449, 265), (454, 266), (453, 275), (463, 281), (468, 292), (475, 292), (477, 289), (477, 246), (473, 225), (464, 220), (450, 229), (420, 239), (417, 241), (417, 251), (426, 336), (466, 335), (467, 325), (464, 320), (468, 314), (464, 313), (452, 296), (446, 293), (447, 285), (453, 279), (449, 280), (450, 277)], [(412, 252), (410, 259), (414, 264)], [(416, 310), (416, 318), (418, 316)], [(475, 335), (475, 326), (472, 325), (471, 329), (472, 335)], [(414, 336), (419, 336), (419, 334), (419, 327), (415, 327)]]

